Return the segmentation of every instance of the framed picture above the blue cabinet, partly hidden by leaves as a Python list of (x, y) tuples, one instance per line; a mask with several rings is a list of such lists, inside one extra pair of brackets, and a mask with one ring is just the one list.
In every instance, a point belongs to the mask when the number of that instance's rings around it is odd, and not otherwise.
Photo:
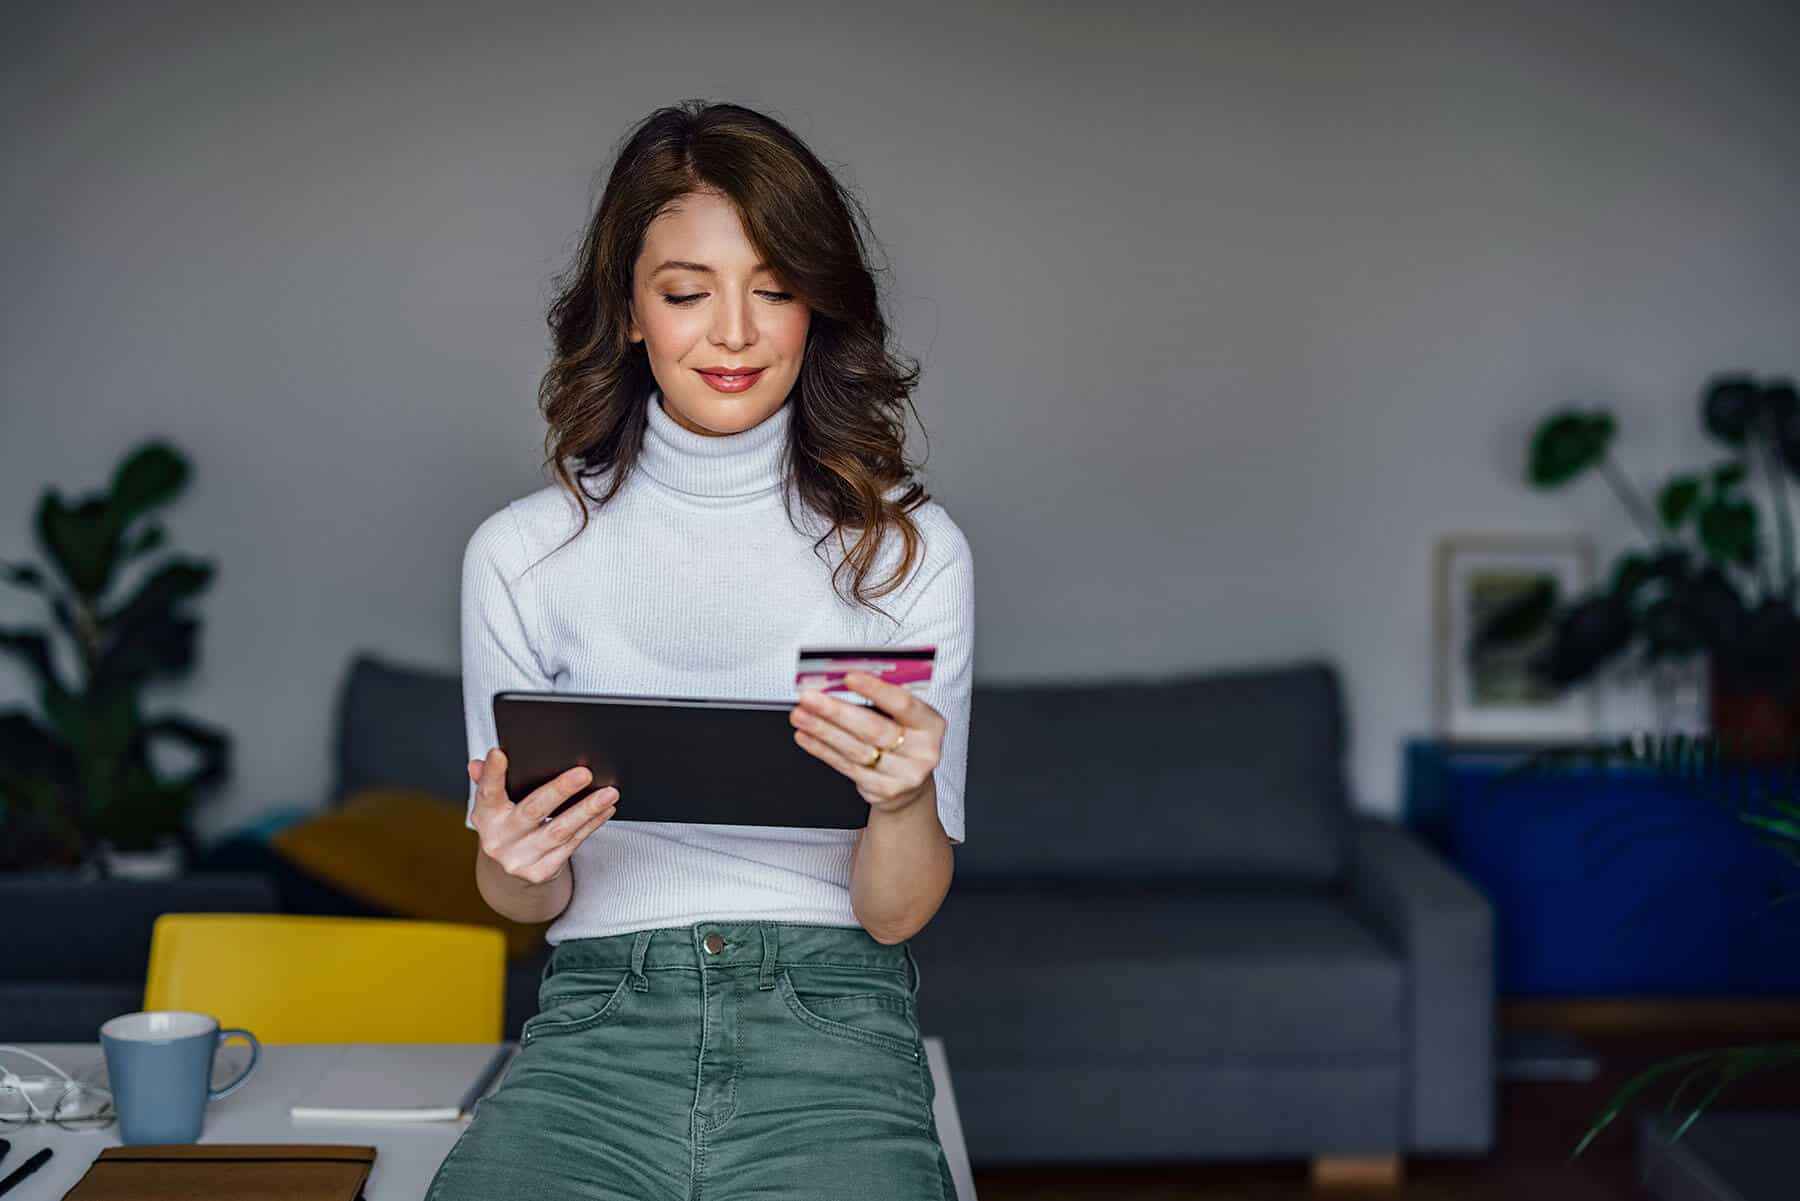
[(1595, 735), (1595, 688), (1557, 690), (1528, 666), (1550, 641), (1550, 614), (1593, 587), (1593, 544), (1580, 535), (1438, 538), (1433, 675), (1440, 735), (1543, 742)]

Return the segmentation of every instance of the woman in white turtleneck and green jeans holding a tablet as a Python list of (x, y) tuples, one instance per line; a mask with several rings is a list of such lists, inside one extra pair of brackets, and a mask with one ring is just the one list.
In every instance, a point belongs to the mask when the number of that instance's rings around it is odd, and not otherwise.
[[(853, 212), (779, 122), (664, 108), (551, 308), (558, 483), (468, 542), (463, 684), (477, 882), (554, 951), (434, 1201), (954, 1196), (907, 940), (963, 841), (974, 571)], [(610, 787), (545, 823), (581, 767), (508, 803), (495, 691), (792, 697), (808, 645), (938, 646), (925, 695), (790, 711), (864, 828), (634, 823)]]

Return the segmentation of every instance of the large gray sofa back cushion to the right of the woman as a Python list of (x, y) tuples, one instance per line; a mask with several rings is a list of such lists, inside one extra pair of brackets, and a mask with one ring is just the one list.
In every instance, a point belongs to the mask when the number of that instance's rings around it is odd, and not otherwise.
[(958, 879), (1314, 882), (1348, 862), (1343, 706), (1323, 663), (977, 684)]

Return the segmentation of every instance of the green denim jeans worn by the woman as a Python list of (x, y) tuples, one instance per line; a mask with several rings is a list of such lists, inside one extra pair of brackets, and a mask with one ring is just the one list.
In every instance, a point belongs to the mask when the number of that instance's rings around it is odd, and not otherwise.
[(427, 1201), (956, 1201), (916, 992), (857, 926), (558, 944)]

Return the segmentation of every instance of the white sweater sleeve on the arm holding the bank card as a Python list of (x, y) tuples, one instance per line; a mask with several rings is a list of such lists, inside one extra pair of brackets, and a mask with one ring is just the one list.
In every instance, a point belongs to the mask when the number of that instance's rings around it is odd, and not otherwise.
[(941, 506), (918, 510), (925, 533), (925, 558), (907, 592), (911, 605), (900, 616), (893, 645), (932, 645), (938, 657), (923, 699), (945, 720), (938, 751), (938, 821), (950, 843), (963, 843), (963, 778), (968, 767), (968, 697), (974, 686), (976, 652), (976, 564), (968, 540)]

